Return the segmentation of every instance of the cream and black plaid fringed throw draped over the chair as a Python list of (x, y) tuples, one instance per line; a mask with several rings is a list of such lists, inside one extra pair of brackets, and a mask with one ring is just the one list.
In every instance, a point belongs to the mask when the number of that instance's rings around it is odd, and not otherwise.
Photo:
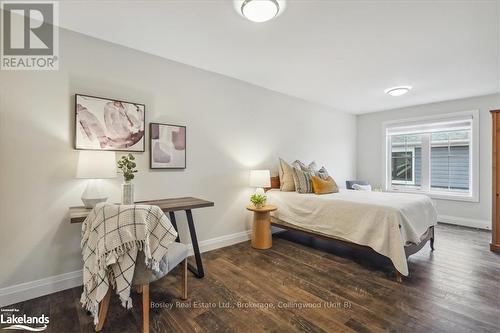
[(144, 251), (147, 267), (158, 271), (167, 245), (177, 232), (157, 206), (101, 203), (82, 225), (82, 305), (97, 324), (99, 303), (109, 287), (120, 296), (122, 305), (132, 307), (130, 289), (137, 252)]

